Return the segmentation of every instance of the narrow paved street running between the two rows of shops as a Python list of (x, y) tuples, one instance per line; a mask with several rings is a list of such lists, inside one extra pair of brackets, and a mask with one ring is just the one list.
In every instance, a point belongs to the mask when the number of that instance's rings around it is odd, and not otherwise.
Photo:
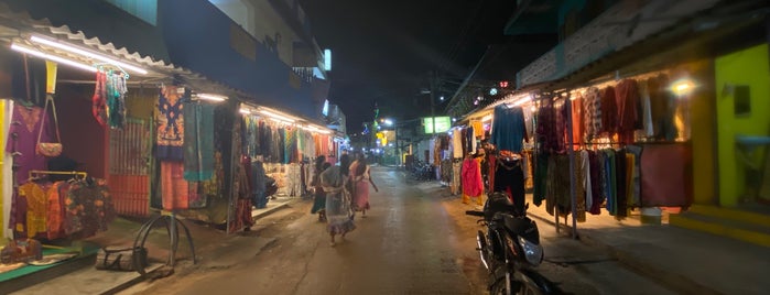
[[(403, 172), (376, 167), (380, 192), (367, 218), (336, 247), (310, 201), (258, 220), (251, 237), (274, 238), (225, 267), (180, 267), (123, 294), (485, 294), (486, 271), (475, 251), (473, 206), (460, 205), (435, 183), (404, 181)], [(373, 193), (373, 190), (372, 190)], [(541, 222), (546, 262), (541, 272), (574, 294), (668, 294), (636, 273)], [(254, 252), (259, 254), (254, 255)], [(203, 260), (217, 260), (203, 255)], [(206, 263), (204, 263), (206, 265)], [(208, 264), (210, 265), (210, 264)]]

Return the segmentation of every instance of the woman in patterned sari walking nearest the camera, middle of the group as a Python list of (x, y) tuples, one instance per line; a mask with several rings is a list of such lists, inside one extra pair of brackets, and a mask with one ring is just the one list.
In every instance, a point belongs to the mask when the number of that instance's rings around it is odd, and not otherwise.
[(345, 239), (345, 234), (356, 229), (350, 192), (345, 189), (346, 183), (339, 166), (330, 166), (321, 174), (321, 185), (326, 193), (326, 230), (332, 238), (332, 247), (335, 245), (335, 236), (341, 234)]

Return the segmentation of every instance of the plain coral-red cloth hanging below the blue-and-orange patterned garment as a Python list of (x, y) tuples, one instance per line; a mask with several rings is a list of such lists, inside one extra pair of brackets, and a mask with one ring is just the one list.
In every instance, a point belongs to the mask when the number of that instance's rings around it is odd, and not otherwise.
[(176, 210), (189, 208), (189, 187), (184, 179), (184, 163), (175, 161), (161, 162), (161, 187), (163, 209)]

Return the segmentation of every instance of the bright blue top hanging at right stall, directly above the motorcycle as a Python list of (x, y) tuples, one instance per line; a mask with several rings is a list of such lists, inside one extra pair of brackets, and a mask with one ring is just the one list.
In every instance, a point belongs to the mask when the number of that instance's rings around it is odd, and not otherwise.
[(529, 141), (522, 108), (508, 108), (505, 105), (497, 106), (495, 107), (494, 118), (490, 142), (497, 145), (498, 151), (521, 153), (523, 141)]

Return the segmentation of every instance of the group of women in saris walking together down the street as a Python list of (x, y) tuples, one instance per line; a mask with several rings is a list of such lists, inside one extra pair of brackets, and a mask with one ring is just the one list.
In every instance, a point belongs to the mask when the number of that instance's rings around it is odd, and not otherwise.
[(339, 157), (339, 166), (326, 162), (325, 156), (319, 156), (314, 165), (315, 176), (312, 182), (315, 200), (312, 214), (318, 215), (318, 221), (326, 222), (330, 245), (336, 244), (335, 237), (345, 234), (356, 229), (354, 218), (357, 211), (366, 218), (369, 205), (369, 185), (379, 192), (371, 179), (369, 165), (362, 153), (356, 153), (350, 163), (350, 156), (343, 154)]

